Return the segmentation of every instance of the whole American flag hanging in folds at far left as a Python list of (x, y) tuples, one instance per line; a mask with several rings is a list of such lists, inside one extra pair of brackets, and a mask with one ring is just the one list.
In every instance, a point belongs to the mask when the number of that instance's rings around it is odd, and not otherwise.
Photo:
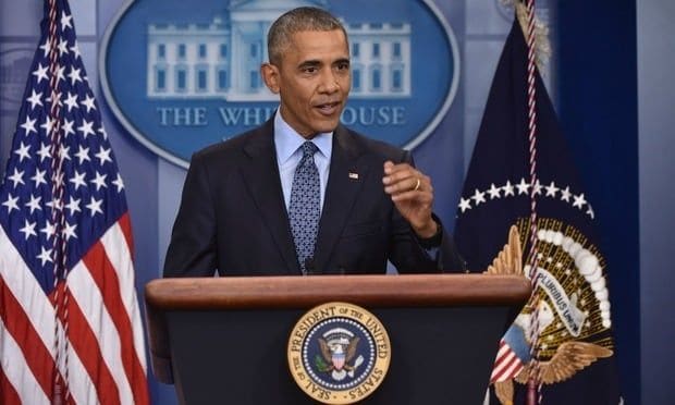
[(147, 404), (124, 184), (65, 0), (45, 1), (0, 225), (0, 403)]

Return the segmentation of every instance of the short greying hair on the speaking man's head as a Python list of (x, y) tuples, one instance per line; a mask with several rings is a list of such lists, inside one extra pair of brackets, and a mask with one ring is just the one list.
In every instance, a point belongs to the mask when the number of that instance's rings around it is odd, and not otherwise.
[[(344, 26), (326, 10), (315, 7), (300, 7), (282, 14), (270, 27), (267, 34), (267, 52), (270, 63), (280, 65), (281, 57), (291, 44), (291, 37), (303, 30), (334, 30), (341, 29), (347, 39)], [(348, 48), (348, 42), (347, 42)]]

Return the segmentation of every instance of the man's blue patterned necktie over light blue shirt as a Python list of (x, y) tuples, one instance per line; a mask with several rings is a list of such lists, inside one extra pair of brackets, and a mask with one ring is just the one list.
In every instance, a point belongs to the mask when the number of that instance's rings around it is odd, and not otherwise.
[(303, 274), (307, 274), (307, 261), (314, 258), (314, 247), (319, 230), (321, 191), (319, 170), (314, 162), (314, 154), (318, 148), (311, 142), (305, 142), (302, 149), (303, 158), (295, 169), (291, 187), (289, 219), (297, 260)]

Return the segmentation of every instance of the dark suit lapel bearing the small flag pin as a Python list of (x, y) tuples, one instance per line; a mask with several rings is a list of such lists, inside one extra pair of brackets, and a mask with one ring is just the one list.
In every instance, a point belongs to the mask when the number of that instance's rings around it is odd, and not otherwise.
[(349, 133), (342, 126), (334, 132), (331, 167), (315, 247), (318, 270), (326, 269), (333, 247), (354, 209), (356, 197), (368, 175), (368, 165), (359, 163), (361, 154)]

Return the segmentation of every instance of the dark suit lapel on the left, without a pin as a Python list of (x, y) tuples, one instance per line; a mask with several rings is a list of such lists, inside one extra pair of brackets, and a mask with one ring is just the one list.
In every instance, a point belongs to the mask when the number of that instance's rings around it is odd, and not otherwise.
[(240, 167), (241, 175), (265, 220), (289, 273), (299, 274), (289, 216), (281, 191), (279, 167), (273, 143), (273, 120), (253, 135), (244, 146), (248, 160)]

